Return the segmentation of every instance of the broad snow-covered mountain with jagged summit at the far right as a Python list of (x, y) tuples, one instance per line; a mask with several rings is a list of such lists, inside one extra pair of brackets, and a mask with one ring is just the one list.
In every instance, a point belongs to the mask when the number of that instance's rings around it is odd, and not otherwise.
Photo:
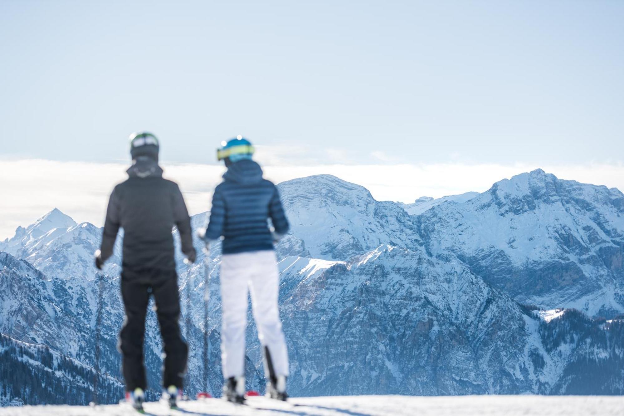
[(523, 304), (624, 312), (624, 194), (538, 169), (418, 216), (427, 252), (452, 255)]

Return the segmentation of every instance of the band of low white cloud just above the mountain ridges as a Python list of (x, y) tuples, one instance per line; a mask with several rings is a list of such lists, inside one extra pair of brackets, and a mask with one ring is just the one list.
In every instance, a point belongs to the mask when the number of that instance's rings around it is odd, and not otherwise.
[[(271, 163), (273, 162), (273, 163)], [(77, 222), (104, 222), (107, 198), (114, 184), (124, 181), (127, 164), (58, 162), (47, 160), (0, 161), (0, 239), (12, 237), (55, 207)], [(210, 209), (213, 188), (222, 166), (168, 164), (165, 177), (180, 184), (191, 214)], [(296, 177), (331, 174), (366, 187), (379, 201), (413, 202), (421, 196), (442, 197), (468, 191), (487, 191), (500, 179), (541, 167), (562, 179), (575, 179), (624, 189), (624, 165), (532, 166), (529, 164), (313, 164), (285, 166), (266, 161), (265, 177), (274, 182)]]

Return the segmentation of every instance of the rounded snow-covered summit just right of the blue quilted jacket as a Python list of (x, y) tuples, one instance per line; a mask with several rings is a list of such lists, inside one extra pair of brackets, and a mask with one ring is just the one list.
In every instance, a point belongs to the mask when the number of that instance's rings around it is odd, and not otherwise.
[(278, 189), (290, 234), (303, 242), (308, 257), (347, 260), (382, 244), (421, 244), (413, 217), (394, 202), (375, 201), (359, 185), (318, 175), (282, 182)]

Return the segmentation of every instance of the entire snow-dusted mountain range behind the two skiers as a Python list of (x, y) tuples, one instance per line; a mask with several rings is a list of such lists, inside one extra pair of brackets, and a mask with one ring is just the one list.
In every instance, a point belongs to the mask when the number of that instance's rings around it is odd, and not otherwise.
[[(421, 199), (410, 215), (414, 207), (375, 201), (333, 176), (278, 187), (292, 225), (276, 247), (292, 395), (624, 393), (616, 316), (624, 309), (624, 196), (616, 189), (534, 171), (483, 194)], [(195, 228), (204, 223), (205, 214), (192, 219)], [(54, 210), (0, 243), (0, 372), (33, 374), (10, 379), (1, 404), (89, 402), (98, 310), (100, 401), (119, 399), (119, 242), (99, 279), (92, 252), (100, 234)], [(220, 395), (219, 245), (208, 274), (203, 254), (187, 267), (177, 253), (191, 395)], [(246, 336), (248, 388), (262, 391), (253, 322)], [(150, 397), (161, 352), (150, 312)], [(44, 376), (48, 387), (35, 389)]]

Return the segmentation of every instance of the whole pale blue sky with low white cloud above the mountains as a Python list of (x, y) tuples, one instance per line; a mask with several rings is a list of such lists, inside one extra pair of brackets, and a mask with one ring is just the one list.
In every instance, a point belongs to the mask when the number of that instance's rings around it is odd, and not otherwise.
[(192, 213), (243, 134), (275, 181), (377, 199), (541, 167), (624, 189), (624, 2), (0, 1), (0, 239), (102, 225), (151, 131)]

